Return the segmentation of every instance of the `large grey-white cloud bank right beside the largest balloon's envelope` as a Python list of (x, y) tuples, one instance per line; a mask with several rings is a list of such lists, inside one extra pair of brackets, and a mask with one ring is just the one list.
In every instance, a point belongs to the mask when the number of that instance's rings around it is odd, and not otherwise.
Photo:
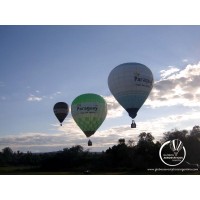
[(145, 105), (155, 107), (183, 105), (200, 107), (200, 62), (183, 70), (170, 67), (161, 71)]

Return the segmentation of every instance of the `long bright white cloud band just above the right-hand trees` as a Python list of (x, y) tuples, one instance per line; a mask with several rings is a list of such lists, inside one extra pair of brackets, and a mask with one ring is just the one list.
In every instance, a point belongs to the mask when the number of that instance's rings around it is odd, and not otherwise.
[[(115, 126), (107, 130), (99, 131), (95, 137), (99, 140), (104, 139), (105, 143), (116, 144), (119, 138), (125, 138), (126, 141), (129, 139), (138, 140), (138, 136), (142, 132), (150, 132), (155, 137), (155, 140), (159, 141), (163, 137), (163, 133), (172, 129), (187, 129), (191, 130), (193, 126), (198, 125), (200, 119), (200, 111), (192, 111), (185, 114), (174, 114), (166, 117), (157, 117), (148, 121), (136, 122), (137, 127), (135, 129), (130, 128), (130, 125)], [(188, 125), (193, 124), (193, 125)]]

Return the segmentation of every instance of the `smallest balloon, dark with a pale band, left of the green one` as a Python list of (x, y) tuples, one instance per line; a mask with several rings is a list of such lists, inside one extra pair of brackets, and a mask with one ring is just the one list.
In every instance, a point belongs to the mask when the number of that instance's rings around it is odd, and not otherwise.
[(67, 117), (68, 112), (69, 112), (69, 106), (65, 102), (58, 102), (54, 105), (53, 111), (55, 116), (60, 122), (60, 125), (62, 126), (62, 122), (64, 119)]

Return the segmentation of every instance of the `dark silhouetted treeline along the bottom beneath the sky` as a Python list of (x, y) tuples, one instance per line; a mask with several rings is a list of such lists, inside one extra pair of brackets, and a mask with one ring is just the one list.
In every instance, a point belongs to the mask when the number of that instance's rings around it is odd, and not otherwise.
[(187, 155), (178, 167), (197, 167), (200, 164), (200, 127), (191, 131), (172, 130), (163, 134), (161, 141), (154, 142), (151, 133), (140, 133), (138, 141), (118, 140), (118, 144), (106, 151), (93, 153), (77, 145), (62, 151), (35, 154), (13, 152), (6, 147), (0, 152), (0, 166), (29, 166), (38, 171), (71, 172), (118, 172), (127, 174), (147, 172), (151, 168), (166, 168), (160, 158), (159, 150), (165, 141), (179, 139), (183, 142)]

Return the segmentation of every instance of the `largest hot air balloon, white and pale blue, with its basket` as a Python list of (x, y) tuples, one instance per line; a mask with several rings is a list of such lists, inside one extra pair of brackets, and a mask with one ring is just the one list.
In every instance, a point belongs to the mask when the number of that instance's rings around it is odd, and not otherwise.
[(136, 128), (134, 118), (153, 87), (151, 70), (140, 63), (124, 63), (115, 67), (108, 76), (108, 87), (132, 118), (131, 128)]

